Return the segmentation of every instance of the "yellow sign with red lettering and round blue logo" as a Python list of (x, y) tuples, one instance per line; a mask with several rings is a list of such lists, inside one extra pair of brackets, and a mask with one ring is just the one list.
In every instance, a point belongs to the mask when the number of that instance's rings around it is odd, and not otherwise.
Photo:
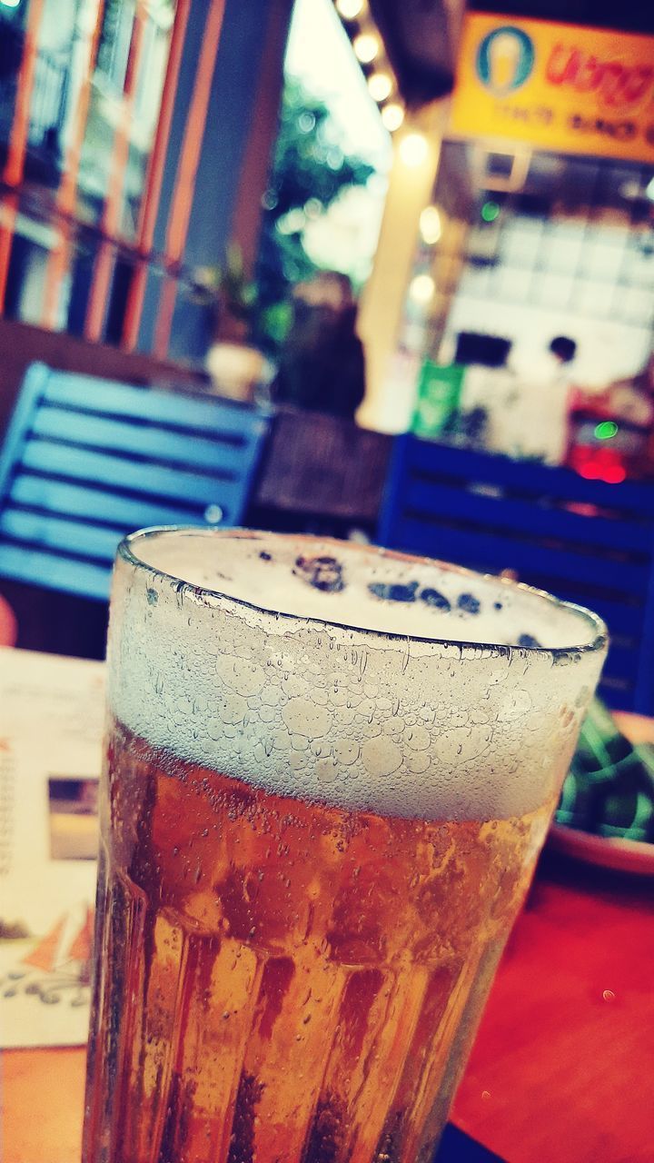
[(452, 131), (654, 163), (654, 37), (469, 13)]

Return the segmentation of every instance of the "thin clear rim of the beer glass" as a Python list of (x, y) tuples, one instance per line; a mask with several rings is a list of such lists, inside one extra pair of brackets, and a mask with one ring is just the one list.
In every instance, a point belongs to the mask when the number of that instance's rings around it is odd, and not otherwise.
[[(431, 635), (419, 635), (419, 634), (407, 634), (398, 633), (393, 630), (377, 630), (370, 627), (353, 626), (348, 622), (339, 622), (335, 619), (318, 618), (313, 614), (293, 614), (286, 611), (276, 611), (271, 607), (260, 606), (254, 601), (248, 601), (244, 598), (235, 598), (234, 594), (223, 593), (221, 590), (215, 590), (211, 586), (197, 585), (193, 582), (186, 582), (184, 578), (178, 577), (176, 573), (169, 573), (166, 570), (162, 570), (156, 565), (151, 565), (149, 562), (143, 561), (138, 557), (137, 552), (134, 551), (134, 543), (141, 541), (148, 541), (150, 538), (161, 536), (162, 534), (190, 534), (201, 537), (220, 537), (226, 541), (230, 537), (239, 541), (256, 541), (262, 537), (270, 537), (279, 541), (294, 541), (300, 545), (304, 544), (321, 544), (321, 545), (334, 545), (342, 549), (344, 545), (348, 551), (360, 552), (369, 555), (370, 557), (379, 557), (383, 559), (399, 561), (399, 562), (414, 562), (417, 565), (432, 566), (435, 565), (440, 569), (446, 570), (448, 573), (456, 573), (462, 578), (476, 578), (483, 582), (490, 582), (497, 585), (498, 588), (520, 591), (531, 598), (535, 598), (539, 602), (548, 605), (553, 611), (567, 611), (573, 614), (578, 621), (584, 622), (587, 627), (591, 627), (595, 632), (595, 637), (590, 642), (585, 642), (578, 645), (569, 647), (543, 647), (543, 645), (507, 645), (506, 643), (498, 642), (470, 642), (463, 638), (442, 638), (433, 637)], [(165, 582), (171, 582), (176, 585), (177, 592), (189, 591), (196, 599), (198, 597), (206, 597), (209, 599), (219, 599), (221, 602), (232, 602), (235, 606), (241, 606), (246, 609), (255, 611), (257, 614), (265, 615), (268, 618), (289, 619), (293, 622), (304, 622), (305, 625), (313, 625), (320, 627), (336, 627), (342, 630), (350, 630), (355, 634), (362, 634), (365, 637), (371, 637), (376, 640), (392, 640), (399, 642), (420, 642), (429, 645), (439, 647), (454, 647), (458, 649), (462, 655), (464, 654), (476, 654), (478, 656), (479, 650), (490, 650), (493, 652), (502, 651), (520, 651), (520, 654), (526, 654), (529, 656), (543, 656), (555, 659), (568, 658), (571, 655), (588, 655), (597, 654), (603, 650), (609, 643), (609, 629), (606, 623), (598, 614), (593, 611), (588, 609), (587, 606), (581, 606), (574, 601), (564, 601), (562, 598), (556, 598), (554, 594), (548, 593), (547, 590), (539, 590), (538, 586), (528, 585), (526, 582), (517, 582), (513, 578), (499, 577), (496, 573), (483, 573), (479, 570), (468, 569), (465, 565), (456, 565), (454, 562), (445, 562), (438, 557), (424, 557), (418, 554), (407, 554), (397, 549), (386, 549), (383, 545), (374, 544), (361, 544), (358, 542), (344, 541), (339, 537), (322, 537), (318, 534), (306, 534), (306, 533), (271, 533), (264, 529), (248, 529), (242, 526), (233, 526), (229, 528), (211, 528), (206, 526), (193, 526), (193, 525), (156, 525), (147, 526), (143, 529), (136, 529), (134, 533), (127, 534), (119, 543), (116, 549), (116, 561), (121, 558), (126, 564), (131, 565), (138, 570), (144, 570), (157, 578)]]

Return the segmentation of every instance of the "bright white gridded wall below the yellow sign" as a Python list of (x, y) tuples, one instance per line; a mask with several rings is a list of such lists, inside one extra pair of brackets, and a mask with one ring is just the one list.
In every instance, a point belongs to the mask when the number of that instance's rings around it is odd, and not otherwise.
[(495, 266), (464, 269), (445, 342), (472, 330), (512, 340), (528, 372), (555, 335), (577, 343), (575, 379), (600, 385), (645, 363), (654, 316), (654, 256), (625, 226), (543, 223), (517, 215), (503, 227)]

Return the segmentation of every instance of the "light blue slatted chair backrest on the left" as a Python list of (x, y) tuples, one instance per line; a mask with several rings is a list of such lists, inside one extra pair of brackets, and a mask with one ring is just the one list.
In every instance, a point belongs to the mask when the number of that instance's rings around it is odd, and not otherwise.
[(0, 454), (0, 577), (106, 600), (120, 538), (239, 525), (268, 418), (33, 364)]

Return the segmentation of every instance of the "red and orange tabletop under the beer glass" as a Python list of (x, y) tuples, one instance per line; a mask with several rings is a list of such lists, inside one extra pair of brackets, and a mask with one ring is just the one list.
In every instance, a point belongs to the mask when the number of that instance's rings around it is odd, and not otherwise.
[[(654, 741), (654, 721), (619, 719)], [(509, 1163), (651, 1163), (653, 963), (652, 882), (546, 852), (453, 1121)], [(3, 1051), (3, 1163), (79, 1160), (84, 1070), (81, 1048)]]

